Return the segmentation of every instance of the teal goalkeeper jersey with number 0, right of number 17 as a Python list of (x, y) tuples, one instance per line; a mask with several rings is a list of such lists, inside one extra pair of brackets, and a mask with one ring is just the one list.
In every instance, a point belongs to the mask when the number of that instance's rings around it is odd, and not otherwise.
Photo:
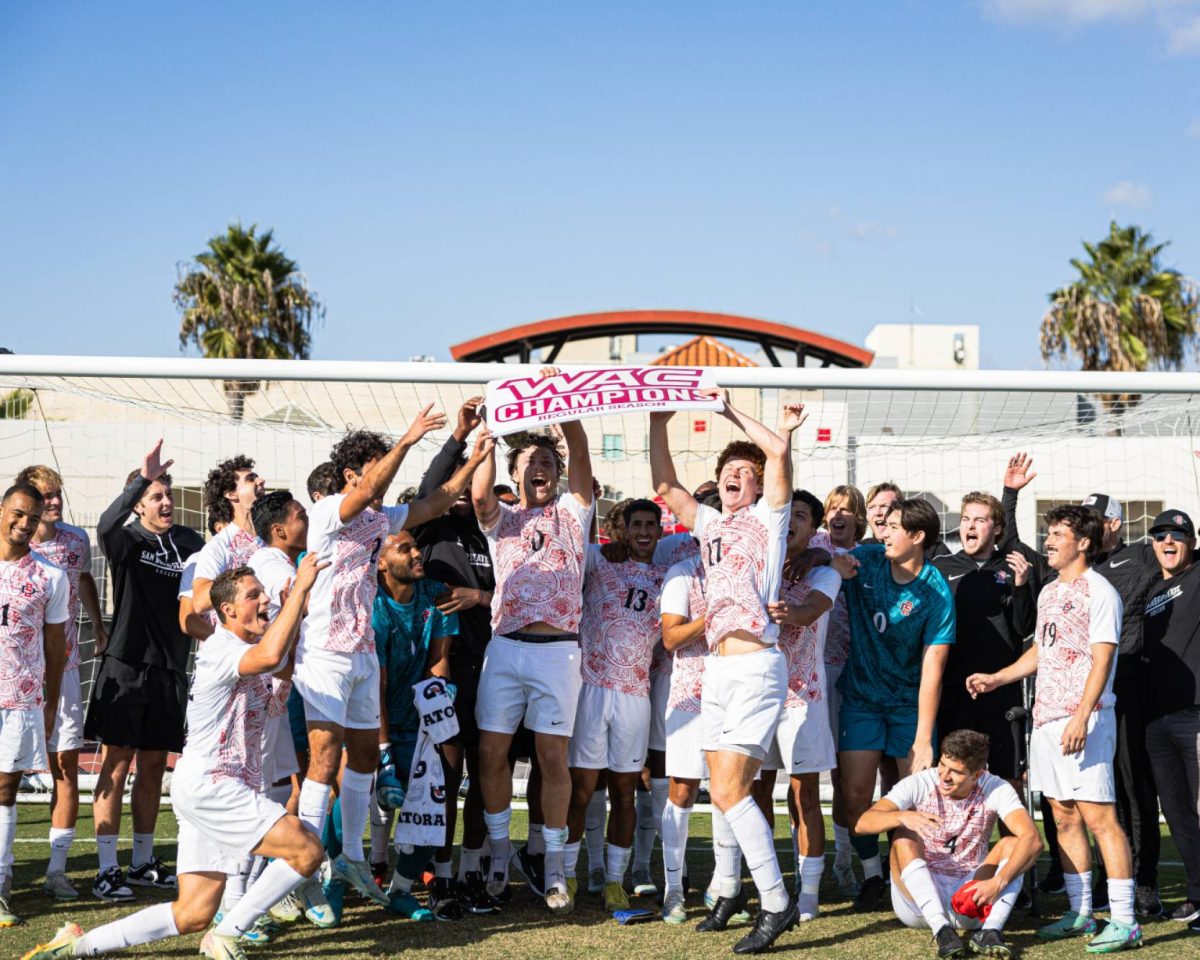
[(916, 710), (925, 647), (954, 642), (954, 596), (931, 563), (911, 583), (896, 583), (882, 544), (852, 552), (859, 568), (842, 583), (850, 659), (838, 689), (854, 707)]

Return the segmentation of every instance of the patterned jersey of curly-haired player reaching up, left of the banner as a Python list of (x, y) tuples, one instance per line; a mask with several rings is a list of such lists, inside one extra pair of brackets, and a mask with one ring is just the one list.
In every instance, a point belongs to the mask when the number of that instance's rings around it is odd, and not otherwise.
[(371, 607), (383, 541), (400, 533), (408, 506), (370, 506), (349, 523), (338, 510), (344, 493), (323, 497), (308, 511), (308, 552), (329, 557), (308, 594), (308, 620), (300, 642), (334, 653), (374, 653)]

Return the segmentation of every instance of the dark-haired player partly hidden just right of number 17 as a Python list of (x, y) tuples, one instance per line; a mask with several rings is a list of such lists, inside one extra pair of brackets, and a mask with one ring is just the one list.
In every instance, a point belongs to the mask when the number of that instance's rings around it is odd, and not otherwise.
[[(787, 529), (790, 564), (804, 559), (822, 512), (821, 500), (806, 490), (792, 493)], [(853, 562), (845, 558), (839, 563)], [(787, 810), (792, 821), (797, 910), (802, 920), (817, 916), (817, 894), (824, 872), (821, 774), (838, 764), (826, 706), (824, 641), (829, 612), (840, 592), (838, 570), (811, 566), (796, 580), (785, 577), (779, 600), (770, 605), (770, 618), (779, 624), (779, 648), (787, 659), (787, 698), (774, 746), (775, 760), (790, 775)]]

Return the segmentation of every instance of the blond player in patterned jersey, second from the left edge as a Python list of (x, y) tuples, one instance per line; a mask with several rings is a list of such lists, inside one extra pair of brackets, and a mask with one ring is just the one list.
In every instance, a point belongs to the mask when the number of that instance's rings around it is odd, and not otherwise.
[(96, 648), (108, 643), (100, 594), (91, 576), (91, 540), (88, 533), (62, 521), (62, 478), (38, 464), (17, 474), (18, 484), (32, 484), (42, 493), (44, 509), (30, 546), (67, 575), (71, 587), (67, 611), (67, 662), (59, 688), (58, 715), (46, 742), (47, 761), (54, 778), (50, 799), (50, 862), (43, 889), (55, 900), (74, 900), (79, 892), (67, 880), (67, 854), (74, 841), (79, 816), (79, 748), (83, 746), (83, 689), (79, 683), (79, 608), (91, 620)]

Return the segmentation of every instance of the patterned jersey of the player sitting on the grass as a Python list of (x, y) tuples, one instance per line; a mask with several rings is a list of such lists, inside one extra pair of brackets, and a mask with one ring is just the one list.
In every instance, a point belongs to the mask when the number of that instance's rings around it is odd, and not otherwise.
[(984, 770), (961, 800), (943, 797), (937, 790), (937, 768), (906, 776), (887, 794), (898, 810), (920, 810), (937, 817), (936, 827), (920, 832), (925, 863), (935, 876), (970, 877), (988, 858), (996, 820), (1024, 809), (1012, 785)]

